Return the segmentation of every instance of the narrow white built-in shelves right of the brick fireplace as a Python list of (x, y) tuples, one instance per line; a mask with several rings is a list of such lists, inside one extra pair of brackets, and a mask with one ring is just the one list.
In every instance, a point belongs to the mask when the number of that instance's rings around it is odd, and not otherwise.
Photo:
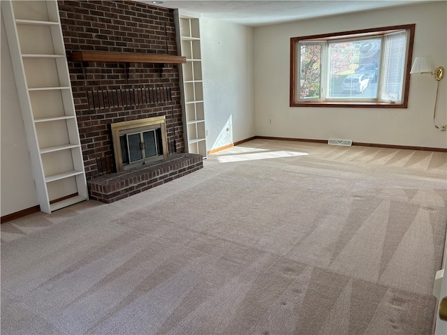
[(196, 17), (182, 17), (177, 13), (177, 36), (182, 56), (180, 81), (184, 110), (184, 134), (187, 151), (207, 157), (205, 108), (203, 105), (202, 58), (200, 54), (200, 27)]

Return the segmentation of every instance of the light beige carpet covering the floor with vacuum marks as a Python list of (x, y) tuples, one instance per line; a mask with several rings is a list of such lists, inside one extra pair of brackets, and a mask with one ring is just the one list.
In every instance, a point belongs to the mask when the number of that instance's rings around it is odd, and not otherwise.
[(447, 154), (254, 140), (1, 225), (1, 334), (430, 334)]

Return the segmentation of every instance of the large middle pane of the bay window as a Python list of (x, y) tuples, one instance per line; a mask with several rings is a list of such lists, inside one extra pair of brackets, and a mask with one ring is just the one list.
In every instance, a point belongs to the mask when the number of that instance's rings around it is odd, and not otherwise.
[(328, 98), (377, 97), (381, 40), (330, 43)]

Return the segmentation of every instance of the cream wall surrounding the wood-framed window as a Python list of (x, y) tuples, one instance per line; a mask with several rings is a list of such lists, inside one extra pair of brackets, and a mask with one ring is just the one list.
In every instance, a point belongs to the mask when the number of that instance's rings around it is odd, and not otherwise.
[[(447, 68), (446, 13), (446, 1), (439, 1), (256, 27), (256, 135), (446, 148), (446, 132), (433, 126), (437, 82), (430, 75), (411, 75), (406, 109), (288, 105), (291, 37), (416, 23), (413, 59), (430, 56), (432, 68)], [(447, 123), (446, 87), (447, 77), (439, 85), (437, 124)]]

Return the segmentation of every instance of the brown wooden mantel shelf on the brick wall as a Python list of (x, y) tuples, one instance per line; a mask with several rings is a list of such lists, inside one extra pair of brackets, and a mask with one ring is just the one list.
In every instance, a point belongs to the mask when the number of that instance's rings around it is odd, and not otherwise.
[(169, 54), (133, 54), (131, 52), (78, 51), (71, 53), (71, 61), (103, 61), (105, 63), (182, 64), (186, 57)]

